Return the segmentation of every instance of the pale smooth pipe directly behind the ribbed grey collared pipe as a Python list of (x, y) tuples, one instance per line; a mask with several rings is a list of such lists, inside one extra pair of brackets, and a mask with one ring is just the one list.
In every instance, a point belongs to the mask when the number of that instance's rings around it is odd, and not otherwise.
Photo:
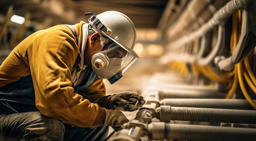
[[(254, 100), (256, 102), (256, 100)], [(245, 99), (204, 99), (204, 98), (166, 98), (160, 105), (197, 108), (227, 108), (238, 110), (254, 110)]]

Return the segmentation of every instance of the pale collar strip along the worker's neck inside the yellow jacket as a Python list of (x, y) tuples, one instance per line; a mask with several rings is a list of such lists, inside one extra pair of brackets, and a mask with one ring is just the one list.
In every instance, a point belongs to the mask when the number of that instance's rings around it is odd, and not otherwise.
[(81, 61), (78, 64), (79, 69), (74, 69), (72, 70), (72, 81), (73, 83), (79, 79), (80, 74), (81, 74), (81, 70), (84, 70), (85, 67), (87, 67), (86, 65), (83, 64), (84, 62), (84, 51), (85, 51), (85, 46), (86, 46), (86, 42), (88, 39), (88, 26), (89, 24), (83, 24), (82, 26), (82, 44), (81, 44)]

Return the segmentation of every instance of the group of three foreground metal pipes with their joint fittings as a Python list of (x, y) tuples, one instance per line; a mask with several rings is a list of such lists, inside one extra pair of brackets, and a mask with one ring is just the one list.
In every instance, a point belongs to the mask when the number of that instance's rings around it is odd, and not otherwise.
[[(160, 122), (152, 121), (153, 118), (160, 119)], [(110, 141), (251, 141), (256, 138), (255, 118), (256, 111), (246, 100), (165, 99), (158, 103), (152, 101), (139, 108), (135, 119), (124, 125)], [(170, 120), (227, 122), (248, 126), (230, 128), (166, 123)]]

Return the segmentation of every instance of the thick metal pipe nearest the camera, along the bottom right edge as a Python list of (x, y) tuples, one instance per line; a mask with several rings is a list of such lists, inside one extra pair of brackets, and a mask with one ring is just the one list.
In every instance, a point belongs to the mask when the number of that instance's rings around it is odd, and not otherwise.
[(256, 139), (256, 129), (253, 128), (152, 122), (148, 125), (148, 131), (149, 138), (154, 140), (252, 141)]

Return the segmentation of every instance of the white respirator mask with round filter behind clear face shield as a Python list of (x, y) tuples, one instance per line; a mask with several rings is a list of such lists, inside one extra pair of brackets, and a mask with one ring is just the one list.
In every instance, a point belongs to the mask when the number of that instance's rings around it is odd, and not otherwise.
[(92, 70), (97, 76), (108, 79), (113, 84), (137, 60), (117, 43), (112, 43), (108, 49), (92, 55)]

